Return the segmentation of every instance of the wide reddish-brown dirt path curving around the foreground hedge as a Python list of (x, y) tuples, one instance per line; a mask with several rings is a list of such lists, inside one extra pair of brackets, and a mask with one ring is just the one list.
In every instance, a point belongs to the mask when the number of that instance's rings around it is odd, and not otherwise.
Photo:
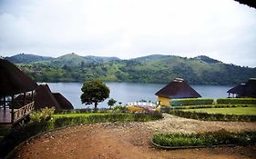
[(159, 121), (127, 124), (85, 124), (43, 134), (18, 149), (13, 158), (256, 158), (256, 146), (160, 150), (149, 144), (156, 132), (201, 132), (225, 128), (256, 130), (256, 123), (202, 122), (169, 114)]

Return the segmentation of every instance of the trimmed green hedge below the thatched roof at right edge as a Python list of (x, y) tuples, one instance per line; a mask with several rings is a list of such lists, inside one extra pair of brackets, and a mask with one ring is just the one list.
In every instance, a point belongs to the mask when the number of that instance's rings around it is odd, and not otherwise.
[(256, 98), (220, 98), (217, 104), (256, 104)]

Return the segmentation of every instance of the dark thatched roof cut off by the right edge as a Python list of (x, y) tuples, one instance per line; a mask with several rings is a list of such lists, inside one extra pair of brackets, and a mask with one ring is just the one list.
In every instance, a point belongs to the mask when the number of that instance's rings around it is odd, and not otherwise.
[(250, 78), (246, 84), (239, 84), (231, 88), (227, 93), (256, 97), (256, 78)]

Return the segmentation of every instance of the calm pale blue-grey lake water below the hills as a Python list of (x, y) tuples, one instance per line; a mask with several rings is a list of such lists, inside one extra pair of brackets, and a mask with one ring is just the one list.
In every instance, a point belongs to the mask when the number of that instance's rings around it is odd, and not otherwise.
[[(165, 84), (134, 84), (134, 83), (106, 83), (110, 89), (110, 98), (114, 98), (122, 104), (136, 102), (141, 99), (146, 101), (157, 101), (156, 92)], [(82, 94), (82, 83), (48, 83), (51, 91), (63, 94), (69, 100), (74, 108), (87, 108), (88, 105), (81, 104), (80, 95)], [(190, 85), (203, 98), (227, 97), (227, 91), (232, 86), (216, 85)], [(98, 107), (108, 107), (108, 99), (98, 104)], [(92, 107), (92, 106), (90, 106)]]

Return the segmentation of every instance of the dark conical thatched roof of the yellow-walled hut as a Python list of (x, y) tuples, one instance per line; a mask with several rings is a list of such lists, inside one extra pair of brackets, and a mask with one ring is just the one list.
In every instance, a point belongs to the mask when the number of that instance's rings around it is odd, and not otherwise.
[(201, 97), (183, 79), (176, 78), (156, 93), (158, 96), (167, 98), (198, 98)]

